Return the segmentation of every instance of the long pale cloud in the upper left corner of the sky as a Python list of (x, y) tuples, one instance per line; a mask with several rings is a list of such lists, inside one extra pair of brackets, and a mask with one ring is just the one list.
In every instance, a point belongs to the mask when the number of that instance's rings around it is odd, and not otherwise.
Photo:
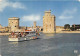
[(10, 2), (8, 0), (0, 1), (0, 12), (2, 12), (6, 7), (20, 8), (20, 9), (25, 9), (26, 8), (20, 2)]

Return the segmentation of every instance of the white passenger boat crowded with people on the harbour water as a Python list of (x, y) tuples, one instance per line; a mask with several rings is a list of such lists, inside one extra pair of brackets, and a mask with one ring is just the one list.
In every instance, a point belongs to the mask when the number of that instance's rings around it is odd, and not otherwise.
[(9, 35), (9, 41), (24, 41), (38, 39), (38, 33), (36, 31), (24, 31), (24, 32), (13, 32)]

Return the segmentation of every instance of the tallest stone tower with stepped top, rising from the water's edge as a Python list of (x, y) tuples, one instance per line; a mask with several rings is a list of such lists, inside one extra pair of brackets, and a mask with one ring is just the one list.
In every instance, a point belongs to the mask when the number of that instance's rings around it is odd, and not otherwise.
[(55, 33), (55, 16), (51, 15), (51, 10), (45, 11), (43, 16), (43, 33)]

